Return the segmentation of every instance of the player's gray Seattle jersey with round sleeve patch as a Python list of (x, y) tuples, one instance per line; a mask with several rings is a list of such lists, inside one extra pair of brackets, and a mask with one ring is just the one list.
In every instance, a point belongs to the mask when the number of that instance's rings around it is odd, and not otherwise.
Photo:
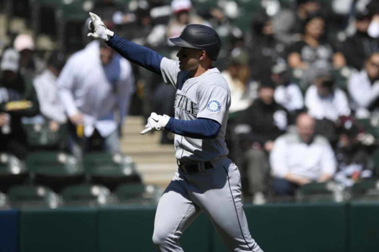
[(217, 68), (191, 78), (189, 71), (179, 70), (179, 61), (163, 58), (161, 72), (166, 83), (176, 88), (175, 118), (208, 118), (221, 124), (215, 139), (194, 139), (175, 134), (175, 156), (183, 162), (204, 162), (228, 154), (225, 143), (226, 122), (230, 107), (230, 90)]

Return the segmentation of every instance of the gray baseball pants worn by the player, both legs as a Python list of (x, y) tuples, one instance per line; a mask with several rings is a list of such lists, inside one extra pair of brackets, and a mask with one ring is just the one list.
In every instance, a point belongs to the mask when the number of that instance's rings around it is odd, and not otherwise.
[(153, 243), (160, 252), (181, 252), (179, 238), (203, 210), (225, 246), (234, 252), (263, 252), (252, 239), (241, 202), (241, 177), (226, 156), (189, 174), (178, 168), (155, 214)]

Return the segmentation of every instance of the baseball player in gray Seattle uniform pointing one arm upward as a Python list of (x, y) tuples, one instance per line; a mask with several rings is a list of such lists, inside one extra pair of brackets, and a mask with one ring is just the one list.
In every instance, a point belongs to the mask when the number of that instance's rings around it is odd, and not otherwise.
[(230, 91), (219, 70), (212, 67), (221, 47), (216, 31), (204, 25), (185, 26), (179, 37), (170, 39), (181, 47), (179, 61), (174, 61), (117, 37), (96, 14), (89, 15), (89, 37), (106, 41), (129, 61), (163, 76), (177, 90), (175, 118), (152, 113), (141, 132), (168, 129), (175, 133), (179, 167), (157, 207), (153, 243), (158, 251), (183, 251), (180, 236), (204, 211), (230, 251), (262, 252), (247, 226), (240, 171), (226, 156)]

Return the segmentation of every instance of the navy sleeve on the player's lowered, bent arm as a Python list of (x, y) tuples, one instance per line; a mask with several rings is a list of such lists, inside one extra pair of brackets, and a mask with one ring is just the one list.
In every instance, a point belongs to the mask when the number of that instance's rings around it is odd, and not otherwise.
[(185, 137), (213, 139), (217, 137), (221, 124), (206, 118), (180, 120), (171, 117), (164, 128)]

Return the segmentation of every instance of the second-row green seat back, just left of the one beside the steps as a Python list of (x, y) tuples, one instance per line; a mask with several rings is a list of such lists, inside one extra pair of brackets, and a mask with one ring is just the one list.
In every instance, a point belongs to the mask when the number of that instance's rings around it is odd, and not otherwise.
[(36, 174), (46, 176), (76, 176), (84, 174), (77, 159), (58, 151), (39, 151), (28, 154), (27, 167)]

